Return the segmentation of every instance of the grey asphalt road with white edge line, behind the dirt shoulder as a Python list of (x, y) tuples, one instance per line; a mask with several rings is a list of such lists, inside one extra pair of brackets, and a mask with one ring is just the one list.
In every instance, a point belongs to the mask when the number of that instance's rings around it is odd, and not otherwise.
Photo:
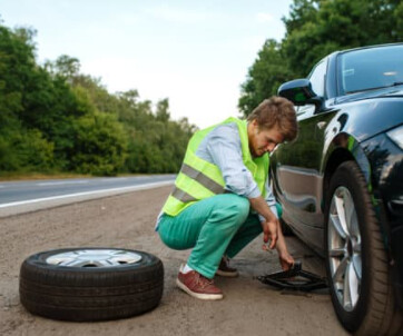
[(0, 217), (150, 189), (173, 184), (175, 175), (0, 182)]

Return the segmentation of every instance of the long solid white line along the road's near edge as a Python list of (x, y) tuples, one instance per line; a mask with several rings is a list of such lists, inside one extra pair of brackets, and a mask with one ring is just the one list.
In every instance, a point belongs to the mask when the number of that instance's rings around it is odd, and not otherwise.
[(96, 194), (102, 194), (102, 192), (108, 194), (108, 192), (114, 192), (114, 191), (144, 190), (144, 189), (151, 189), (151, 188), (163, 187), (163, 186), (173, 185), (173, 184), (174, 184), (174, 180), (154, 182), (154, 184), (145, 184), (145, 185), (138, 185), (138, 186), (131, 186), (131, 187), (110, 188), (110, 189), (101, 189), (101, 190), (95, 190), (95, 191), (83, 191), (83, 192), (76, 192), (76, 194), (69, 194), (69, 195), (36, 198), (36, 199), (28, 199), (28, 200), (2, 204), (2, 205), (0, 205), (0, 208), (14, 207), (14, 206), (28, 205), (28, 204), (33, 204), (33, 202), (47, 201), (47, 200), (56, 200), (56, 199), (63, 199), (63, 198), (71, 198), (71, 197), (79, 197), (79, 196), (96, 195)]

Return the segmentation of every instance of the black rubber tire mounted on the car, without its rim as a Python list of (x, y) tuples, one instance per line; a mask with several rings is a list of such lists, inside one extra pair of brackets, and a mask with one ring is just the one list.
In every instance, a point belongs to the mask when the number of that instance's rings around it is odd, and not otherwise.
[[(327, 224), (330, 205), (337, 187), (352, 195), (362, 239), (362, 283), (360, 298), (352, 312), (338, 303), (330, 270)], [(354, 161), (342, 164), (333, 175), (326, 199), (325, 250), (332, 303), (338, 320), (354, 335), (403, 335), (402, 313), (395, 307), (391, 269), (365, 179)]]

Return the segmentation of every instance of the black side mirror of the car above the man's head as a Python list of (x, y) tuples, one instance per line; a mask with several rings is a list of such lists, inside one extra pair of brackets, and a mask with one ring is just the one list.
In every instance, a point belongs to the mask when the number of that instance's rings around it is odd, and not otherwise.
[(317, 97), (312, 90), (311, 81), (306, 78), (295, 79), (283, 83), (278, 88), (278, 96), (287, 98), (295, 106), (313, 102), (313, 98)]

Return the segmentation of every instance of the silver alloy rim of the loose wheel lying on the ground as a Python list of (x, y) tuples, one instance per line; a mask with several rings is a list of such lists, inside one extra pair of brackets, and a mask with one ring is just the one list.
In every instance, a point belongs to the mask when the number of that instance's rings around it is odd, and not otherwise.
[(140, 260), (139, 254), (122, 249), (76, 249), (52, 255), (46, 263), (65, 267), (116, 267)]

